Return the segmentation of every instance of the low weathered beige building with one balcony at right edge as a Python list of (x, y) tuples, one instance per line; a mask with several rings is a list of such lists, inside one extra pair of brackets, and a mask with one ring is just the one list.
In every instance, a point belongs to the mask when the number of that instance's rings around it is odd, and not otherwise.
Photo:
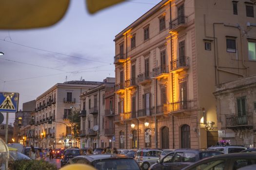
[(256, 146), (256, 75), (217, 85), (221, 137), (231, 144)]

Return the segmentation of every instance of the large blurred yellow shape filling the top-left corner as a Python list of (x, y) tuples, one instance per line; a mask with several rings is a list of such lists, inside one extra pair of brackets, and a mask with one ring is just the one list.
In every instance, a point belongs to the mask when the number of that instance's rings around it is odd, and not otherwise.
[(57, 23), (69, 0), (0, 0), (0, 29), (30, 29)]

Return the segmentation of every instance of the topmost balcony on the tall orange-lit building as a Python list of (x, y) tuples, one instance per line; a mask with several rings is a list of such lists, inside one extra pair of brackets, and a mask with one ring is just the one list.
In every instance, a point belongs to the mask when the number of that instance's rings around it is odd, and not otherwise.
[(187, 16), (178, 16), (174, 20), (169, 23), (170, 32), (175, 31), (179, 32), (180, 30), (186, 28), (188, 25), (188, 17)]

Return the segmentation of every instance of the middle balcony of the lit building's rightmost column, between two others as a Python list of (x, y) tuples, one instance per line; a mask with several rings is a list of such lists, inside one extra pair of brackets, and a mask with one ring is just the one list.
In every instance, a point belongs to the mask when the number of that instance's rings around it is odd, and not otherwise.
[(189, 57), (179, 57), (170, 62), (171, 72), (180, 72), (189, 68)]

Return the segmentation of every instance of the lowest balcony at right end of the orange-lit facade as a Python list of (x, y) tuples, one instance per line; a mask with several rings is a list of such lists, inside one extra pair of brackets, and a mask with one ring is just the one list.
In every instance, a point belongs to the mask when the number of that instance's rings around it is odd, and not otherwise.
[(178, 101), (170, 103), (170, 112), (174, 116), (190, 115), (192, 101)]

